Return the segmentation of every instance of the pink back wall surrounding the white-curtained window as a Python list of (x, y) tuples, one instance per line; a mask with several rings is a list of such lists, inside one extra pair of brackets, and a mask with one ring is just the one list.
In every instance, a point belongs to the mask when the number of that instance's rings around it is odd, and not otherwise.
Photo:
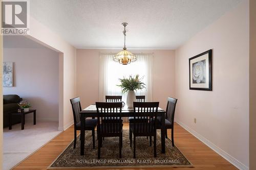
[[(118, 50), (77, 50), (77, 95), (82, 107), (99, 101), (99, 54)], [(175, 96), (175, 51), (131, 50), (133, 53), (154, 53), (153, 101), (166, 107), (168, 96)]]

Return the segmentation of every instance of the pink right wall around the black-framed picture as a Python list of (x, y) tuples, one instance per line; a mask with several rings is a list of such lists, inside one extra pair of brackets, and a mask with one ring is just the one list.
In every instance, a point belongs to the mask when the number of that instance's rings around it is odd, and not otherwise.
[[(249, 166), (248, 7), (244, 1), (176, 50), (176, 121), (243, 169)], [(213, 91), (189, 90), (188, 59), (209, 49)]]

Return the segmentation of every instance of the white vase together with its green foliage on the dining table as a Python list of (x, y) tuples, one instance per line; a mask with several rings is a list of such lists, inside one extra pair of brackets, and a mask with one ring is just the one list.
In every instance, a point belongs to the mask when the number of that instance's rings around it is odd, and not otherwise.
[(145, 84), (141, 82), (142, 79), (139, 79), (139, 75), (130, 75), (128, 78), (123, 77), (123, 79), (119, 79), (121, 84), (117, 86), (122, 88), (122, 93), (128, 92), (126, 101), (128, 108), (133, 108), (133, 102), (136, 102), (136, 95), (134, 90), (137, 91), (146, 88)]

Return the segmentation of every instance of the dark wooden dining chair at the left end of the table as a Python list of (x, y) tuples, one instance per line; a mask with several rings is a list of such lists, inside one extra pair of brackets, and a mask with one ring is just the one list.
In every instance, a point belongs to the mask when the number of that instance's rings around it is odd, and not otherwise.
[[(80, 120), (80, 111), (81, 103), (80, 98), (73, 98), (70, 99), (72, 110), (73, 110), (73, 117), (74, 117), (74, 149), (76, 148), (76, 131), (81, 130), (81, 120)], [(86, 119), (86, 127), (85, 130), (92, 131), (93, 136), (93, 149), (95, 149), (95, 128), (97, 126), (97, 119)], [(80, 136), (81, 139), (81, 136)]]

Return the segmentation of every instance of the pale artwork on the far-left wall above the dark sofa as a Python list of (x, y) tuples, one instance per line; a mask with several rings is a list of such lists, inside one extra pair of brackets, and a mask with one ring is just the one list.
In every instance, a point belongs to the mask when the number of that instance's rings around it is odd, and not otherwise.
[(3, 64), (3, 86), (13, 86), (13, 62), (4, 62)]

